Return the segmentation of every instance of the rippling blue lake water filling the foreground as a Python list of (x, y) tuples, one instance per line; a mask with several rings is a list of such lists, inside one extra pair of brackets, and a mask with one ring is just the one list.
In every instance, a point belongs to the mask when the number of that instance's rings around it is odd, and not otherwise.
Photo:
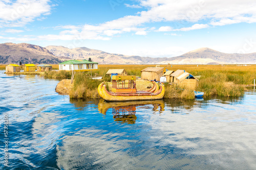
[(107, 103), (3, 72), (0, 169), (256, 169), (253, 89), (242, 98)]

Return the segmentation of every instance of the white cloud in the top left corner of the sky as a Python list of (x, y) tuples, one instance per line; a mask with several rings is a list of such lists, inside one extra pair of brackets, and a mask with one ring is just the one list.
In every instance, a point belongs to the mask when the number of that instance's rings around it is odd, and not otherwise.
[(1, 26), (22, 27), (41, 15), (49, 15), (51, 10), (50, 2), (51, 0), (1, 1)]

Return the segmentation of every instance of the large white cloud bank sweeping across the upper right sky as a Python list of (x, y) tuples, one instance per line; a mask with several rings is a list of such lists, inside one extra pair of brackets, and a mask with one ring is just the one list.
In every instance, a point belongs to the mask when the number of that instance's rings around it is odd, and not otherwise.
[[(125, 32), (146, 35), (153, 30), (145, 25), (153, 22), (178, 23), (175, 27), (160, 27), (159, 32), (190, 31), (231, 23), (256, 22), (256, 10), (254, 10), (256, 2), (254, 0), (243, 2), (230, 0), (209, 0), (207, 2), (204, 0), (138, 0), (138, 2), (140, 7), (145, 7), (148, 10), (100, 23), (97, 26), (84, 25), (83, 32), (90, 31), (97, 36), (109, 37)], [(126, 4), (126, 6), (130, 7), (131, 5)], [(209, 23), (206, 20), (209, 20)], [(206, 23), (202, 23), (203, 21)], [(194, 25), (188, 27), (191, 23)]]

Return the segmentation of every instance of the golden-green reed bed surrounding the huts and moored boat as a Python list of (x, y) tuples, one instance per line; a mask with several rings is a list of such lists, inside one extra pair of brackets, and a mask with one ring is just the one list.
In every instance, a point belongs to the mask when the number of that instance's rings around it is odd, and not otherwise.
[[(97, 93), (97, 87), (104, 82), (106, 88), (111, 90), (111, 76), (106, 75), (109, 69), (125, 69), (127, 75), (135, 75), (138, 80), (136, 86), (141, 84), (141, 90), (145, 90), (150, 86), (149, 81), (141, 80), (141, 70), (153, 65), (99, 65), (98, 70), (91, 72), (80, 72), (75, 74), (72, 89), (70, 90), (70, 98), (100, 98)], [(161, 66), (166, 67), (166, 66)], [(194, 90), (203, 91), (204, 95), (220, 95), (220, 96), (243, 96), (247, 86), (253, 86), (256, 79), (256, 65), (236, 66), (236, 65), (173, 65), (166, 67), (171, 70), (185, 69), (190, 74), (198, 78), (196, 89), (190, 89), (185, 85), (165, 83), (164, 99), (194, 99)], [(49, 71), (49, 74), (52, 74)], [(52, 78), (71, 77), (69, 74), (55, 71)], [(57, 76), (58, 75), (58, 76)], [(102, 76), (101, 80), (90, 79), (91, 75)], [(46, 75), (45, 75), (46, 76)], [(200, 77), (200, 78), (199, 78)], [(153, 85), (153, 84), (152, 84)], [(151, 86), (152, 86), (151, 85)], [(184, 90), (182, 90), (184, 89)], [(139, 90), (139, 89), (138, 89)]]

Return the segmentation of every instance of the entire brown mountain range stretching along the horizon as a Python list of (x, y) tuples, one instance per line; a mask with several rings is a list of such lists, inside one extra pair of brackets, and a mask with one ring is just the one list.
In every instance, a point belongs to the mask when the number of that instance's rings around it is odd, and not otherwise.
[(41, 47), (28, 43), (0, 44), (0, 64), (34, 63), (57, 64), (64, 60), (91, 58), (99, 64), (256, 64), (256, 53), (227, 54), (211, 48), (198, 48), (177, 57), (140, 57), (106, 53), (87, 47), (67, 48), (49, 45)]

